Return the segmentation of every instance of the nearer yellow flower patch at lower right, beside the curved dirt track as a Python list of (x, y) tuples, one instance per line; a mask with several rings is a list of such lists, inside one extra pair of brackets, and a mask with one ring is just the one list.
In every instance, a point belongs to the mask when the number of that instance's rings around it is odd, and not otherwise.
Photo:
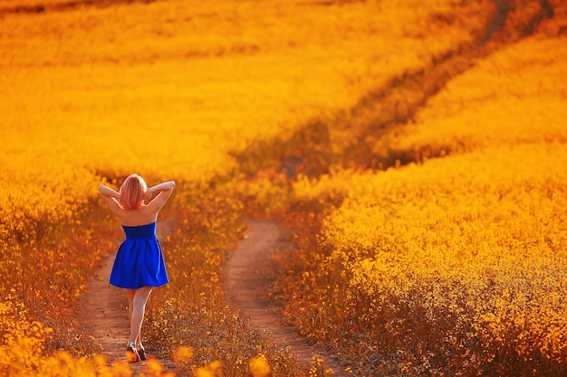
[(515, 146), (337, 174), (340, 207), (293, 220), (298, 240), (321, 231), (287, 266), (288, 312), (373, 373), (391, 372), (372, 365), (391, 355), (426, 374), (561, 372), (565, 157), (561, 144)]

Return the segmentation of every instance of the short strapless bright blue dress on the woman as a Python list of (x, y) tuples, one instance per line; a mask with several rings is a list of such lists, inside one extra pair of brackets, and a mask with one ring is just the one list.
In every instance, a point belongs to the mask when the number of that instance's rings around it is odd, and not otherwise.
[(111, 285), (121, 288), (160, 287), (168, 283), (168, 271), (156, 236), (156, 222), (122, 225), (126, 240), (114, 259)]

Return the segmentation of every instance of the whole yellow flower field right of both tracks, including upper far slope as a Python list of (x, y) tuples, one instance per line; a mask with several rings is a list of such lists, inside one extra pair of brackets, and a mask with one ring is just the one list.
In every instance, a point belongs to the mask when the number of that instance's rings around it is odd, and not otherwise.
[(562, 17), (374, 136), (375, 158), (399, 156), (387, 170), (284, 193), (296, 248), (274, 296), (360, 375), (564, 374)]

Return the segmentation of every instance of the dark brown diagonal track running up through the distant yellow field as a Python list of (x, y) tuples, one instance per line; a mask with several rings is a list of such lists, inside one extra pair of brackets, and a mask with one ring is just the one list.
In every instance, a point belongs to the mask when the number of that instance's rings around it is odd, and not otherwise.
[[(537, 26), (554, 14), (548, 0), (520, 5), (512, 0), (492, 3), (495, 10), (474, 41), (453, 46), (414, 71), (401, 72), (329, 121), (313, 121), (289, 137), (261, 141), (235, 153), (243, 172), (254, 176), (264, 167), (275, 166), (294, 179), (300, 173), (313, 177), (328, 174), (330, 166), (385, 169), (418, 162), (423, 156), (443, 156), (441, 151), (391, 150), (382, 137), (394, 127), (412, 122), (419, 108), (449, 81), (475, 67), (477, 61), (533, 35)], [(348, 135), (351, 144), (341, 144), (341, 135)], [(385, 147), (377, 152), (379, 144)]]

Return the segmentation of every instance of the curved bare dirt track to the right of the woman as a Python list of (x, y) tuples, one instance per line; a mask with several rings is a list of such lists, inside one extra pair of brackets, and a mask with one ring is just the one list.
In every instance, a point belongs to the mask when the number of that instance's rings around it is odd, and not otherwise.
[(273, 252), (284, 246), (283, 231), (274, 220), (250, 220), (247, 224), (245, 240), (226, 261), (227, 304), (233, 311), (249, 316), (252, 325), (267, 330), (275, 344), (289, 347), (301, 363), (310, 363), (312, 356), (318, 355), (332, 368), (334, 376), (350, 376), (331, 353), (308, 344), (297, 327), (290, 325), (289, 319), (265, 298), (266, 279), (262, 271)]

